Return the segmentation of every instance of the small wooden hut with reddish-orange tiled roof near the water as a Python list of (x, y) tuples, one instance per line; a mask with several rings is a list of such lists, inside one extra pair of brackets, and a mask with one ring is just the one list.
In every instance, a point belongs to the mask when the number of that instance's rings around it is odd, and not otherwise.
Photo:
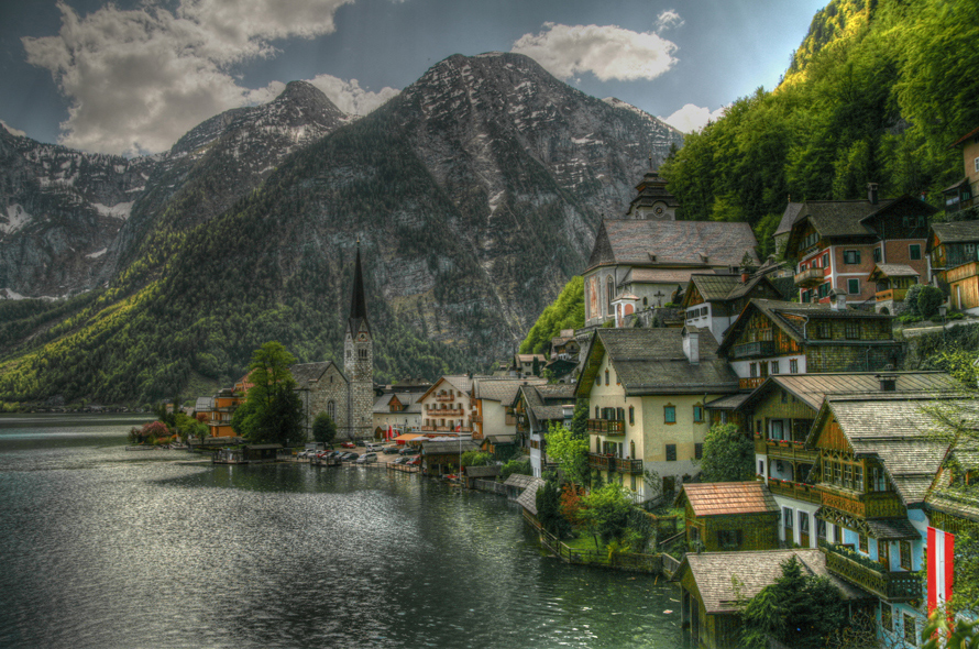
[(689, 547), (696, 550), (774, 550), (779, 547), (779, 506), (760, 482), (684, 484), (674, 507), (682, 507)]

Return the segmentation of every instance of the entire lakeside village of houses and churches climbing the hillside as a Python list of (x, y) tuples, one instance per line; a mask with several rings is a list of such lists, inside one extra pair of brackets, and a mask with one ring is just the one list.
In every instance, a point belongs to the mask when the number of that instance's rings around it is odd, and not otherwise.
[[(305, 418), (324, 411), (340, 439), (414, 447), (433, 476), (468, 450), (522, 457), (532, 475), (513, 484), (538, 524), (534, 495), (561, 469), (546, 436), (586, 406), (598, 483), (683, 510), (683, 549), (663, 553), (662, 571), (700, 646), (736, 641), (738, 601), (789, 556), (869, 612), (889, 647), (920, 646), (925, 615), (948, 596), (928, 558), (979, 521), (975, 440), (935, 432), (943, 417), (969, 420), (974, 386), (900, 370), (906, 343), (892, 323), (917, 284), (944, 290), (943, 317), (979, 312), (979, 221), (954, 220), (979, 182), (979, 129), (956, 145), (966, 176), (946, 190), (949, 220), (873, 185), (861, 200), (789, 202), (784, 261), (759, 260), (744, 223), (675, 220), (650, 169), (626, 213), (602, 224), (583, 272), (585, 326), (492, 375), (374, 385), (358, 253), (343, 366), (292, 369)], [(198, 400), (215, 441), (233, 436), (246, 383)], [(754, 480), (702, 482), (708, 431), (725, 424), (754, 444)]]

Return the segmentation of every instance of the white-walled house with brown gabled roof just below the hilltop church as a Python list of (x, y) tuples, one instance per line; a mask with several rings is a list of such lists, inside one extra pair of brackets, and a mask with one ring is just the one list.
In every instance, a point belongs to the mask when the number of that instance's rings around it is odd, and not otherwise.
[(766, 275), (751, 274), (747, 268), (739, 273), (695, 273), (690, 276), (680, 306), (688, 324), (708, 329), (721, 342), (752, 298), (780, 300), (782, 294)]

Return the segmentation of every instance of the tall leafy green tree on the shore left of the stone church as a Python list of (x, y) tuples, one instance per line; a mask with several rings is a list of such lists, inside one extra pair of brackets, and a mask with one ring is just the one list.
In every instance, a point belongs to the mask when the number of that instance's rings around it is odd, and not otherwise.
[[(295, 362), (295, 356), (278, 342), (266, 342), (255, 350), (249, 374), (252, 387), (231, 420), (237, 433), (252, 443), (289, 446), (302, 441), (302, 403), (289, 372)], [(242, 408), (245, 413), (238, 417)]]

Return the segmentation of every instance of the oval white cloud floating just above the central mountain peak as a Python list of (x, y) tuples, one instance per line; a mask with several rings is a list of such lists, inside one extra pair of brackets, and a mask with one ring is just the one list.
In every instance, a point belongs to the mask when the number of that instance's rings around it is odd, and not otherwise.
[(512, 51), (530, 56), (561, 79), (582, 73), (603, 81), (654, 79), (676, 62), (676, 45), (650, 32), (552, 22), (543, 28), (539, 34), (520, 36)]

